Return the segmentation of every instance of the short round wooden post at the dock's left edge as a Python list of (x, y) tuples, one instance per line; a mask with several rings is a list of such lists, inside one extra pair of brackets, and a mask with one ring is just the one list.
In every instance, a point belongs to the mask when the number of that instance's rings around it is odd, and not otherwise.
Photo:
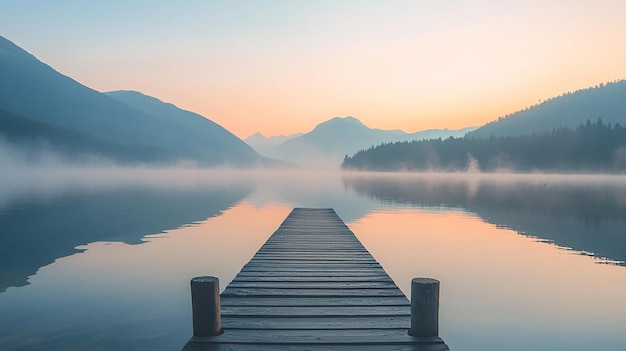
[(191, 279), (193, 336), (222, 334), (220, 314), (220, 281), (216, 277)]

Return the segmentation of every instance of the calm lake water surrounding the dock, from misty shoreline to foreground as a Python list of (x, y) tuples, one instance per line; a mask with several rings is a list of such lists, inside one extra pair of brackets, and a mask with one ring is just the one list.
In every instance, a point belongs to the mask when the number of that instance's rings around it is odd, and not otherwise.
[(0, 170), (0, 350), (177, 350), (293, 207), (332, 207), (453, 350), (626, 349), (626, 177)]

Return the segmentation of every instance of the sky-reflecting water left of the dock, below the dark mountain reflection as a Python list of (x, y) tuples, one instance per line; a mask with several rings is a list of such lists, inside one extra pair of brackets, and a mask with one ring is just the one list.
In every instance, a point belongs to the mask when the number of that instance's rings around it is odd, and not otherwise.
[(211, 274), (225, 287), (289, 211), (243, 201), (141, 245), (86, 245), (0, 294), (0, 349), (180, 349), (191, 335), (189, 279)]

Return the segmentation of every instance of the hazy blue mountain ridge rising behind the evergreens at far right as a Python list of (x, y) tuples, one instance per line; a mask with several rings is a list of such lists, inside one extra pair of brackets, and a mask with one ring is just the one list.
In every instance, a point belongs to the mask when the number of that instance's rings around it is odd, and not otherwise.
[(519, 136), (575, 129), (587, 120), (626, 125), (626, 80), (601, 84), (549, 99), (499, 118), (473, 132), (471, 138)]

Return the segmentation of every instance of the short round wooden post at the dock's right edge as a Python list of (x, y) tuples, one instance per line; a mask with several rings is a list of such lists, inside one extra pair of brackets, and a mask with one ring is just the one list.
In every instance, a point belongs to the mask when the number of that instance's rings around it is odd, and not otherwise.
[(431, 278), (411, 280), (411, 329), (409, 335), (439, 336), (439, 281)]

